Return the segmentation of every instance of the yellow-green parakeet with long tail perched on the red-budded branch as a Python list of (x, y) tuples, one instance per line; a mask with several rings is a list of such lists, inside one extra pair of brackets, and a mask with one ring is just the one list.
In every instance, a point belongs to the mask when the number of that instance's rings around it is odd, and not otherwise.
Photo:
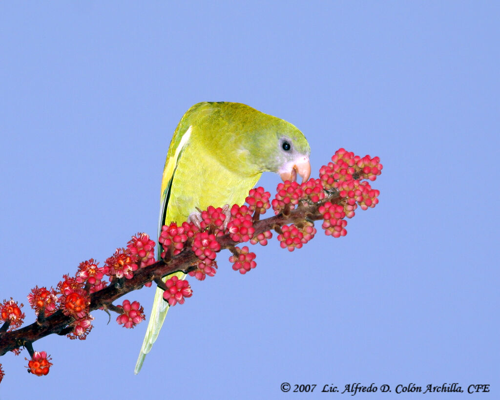
[[(161, 225), (185, 221), (197, 208), (242, 204), (261, 173), (302, 181), (310, 174), (309, 144), (292, 124), (245, 104), (201, 102), (180, 119), (166, 155), (161, 182)], [(158, 259), (161, 246), (158, 246)], [(179, 279), (184, 275), (176, 272)], [(164, 278), (166, 280), (167, 277)], [(138, 373), (168, 310), (156, 289), (151, 316), (135, 365)]]

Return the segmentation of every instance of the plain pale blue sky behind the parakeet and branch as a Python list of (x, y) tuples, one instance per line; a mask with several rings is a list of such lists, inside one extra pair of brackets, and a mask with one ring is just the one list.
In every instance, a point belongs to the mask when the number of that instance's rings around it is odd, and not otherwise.
[[(356, 212), (346, 237), (316, 224), (293, 253), (272, 240), (244, 276), (222, 252), (216, 276), (193, 281), (170, 311), (139, 375), (146, 324), (128, 330), (94, 311), (87, 340), (34, 343), (53, 358), (45, 377), (26, 373), (25, 351), (1, 357), (0, 398), (297, 396), (282, 382), (498, 392), (499, 11), (487, 1), (2, 3), (0, 299), (26, 304), (34, 285), (154, 234), (168, 143), (198, 101), (290, 121), (308, 138), (313, 176), (339, 147), (378, 155), (384, 169), (380, 203)], [(149, 312), (153, 292), (126, 298)]]

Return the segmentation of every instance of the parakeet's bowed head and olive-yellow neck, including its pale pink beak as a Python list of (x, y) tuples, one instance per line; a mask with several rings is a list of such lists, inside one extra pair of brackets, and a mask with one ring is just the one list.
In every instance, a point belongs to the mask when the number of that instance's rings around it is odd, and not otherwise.
[(211, 131), (213, 152), (229, 169), (248, 175), (276, 172), (283, 180), (295, 180), (297, 175), (302, 181), (309, 178), (309, 143), (291, 123), (241, 103), (198, 107)]

